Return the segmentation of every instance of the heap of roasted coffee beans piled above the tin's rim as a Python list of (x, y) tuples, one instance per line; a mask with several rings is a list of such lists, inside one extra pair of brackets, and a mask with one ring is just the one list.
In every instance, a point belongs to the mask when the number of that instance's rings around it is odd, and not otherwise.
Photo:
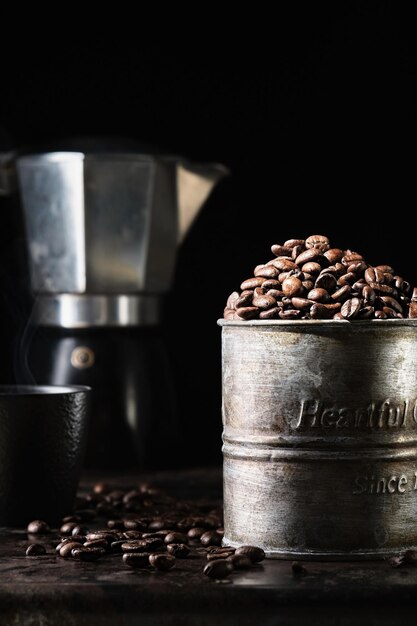
[(391, 265), (369, 265), (325, 235), (288, 239), (234, 291), (226, 320), (365, 320), (417, 318), (417, 288)]

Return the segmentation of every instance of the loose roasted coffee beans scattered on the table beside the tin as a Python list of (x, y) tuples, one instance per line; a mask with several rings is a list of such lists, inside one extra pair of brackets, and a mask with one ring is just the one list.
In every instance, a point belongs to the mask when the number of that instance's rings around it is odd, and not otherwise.
[[(49, 525), (33, 520), (27, 532), (35, 541), (26, 555), (47, 554), (39, 540), (50, 537)], [(265, 558), (261, 548), (222, 546), (222, 538), (222, 509), (213, 502), (178, 500), (148, 483), (119, 489), (100, 482), (62, 520), (55, 549), (62, 559), (119, 558), (121, 567), (131, 570), (165, 572), (178, 559), (201, 559), (202, 573), (213, 579), (256, 567)]]

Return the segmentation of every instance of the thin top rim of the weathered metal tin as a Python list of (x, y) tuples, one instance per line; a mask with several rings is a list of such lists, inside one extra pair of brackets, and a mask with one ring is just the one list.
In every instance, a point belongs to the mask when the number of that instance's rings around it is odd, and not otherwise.
[(217, 320), (218, 326), (288, 326), (288, 327), (315, 327), (318, 326), (334, 326), (345, 328), (364, 328), (367, 326), (416, 326), (417, 319), (386, 319), (386, 320), (225, 320), (220, 318)]

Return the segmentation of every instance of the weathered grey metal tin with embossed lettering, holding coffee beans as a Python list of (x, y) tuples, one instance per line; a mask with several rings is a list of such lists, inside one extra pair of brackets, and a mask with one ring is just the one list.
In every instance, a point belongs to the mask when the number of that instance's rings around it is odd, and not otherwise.
[(219, 321), (224, 543), (274, 558), (417, 546), (417, 320)]

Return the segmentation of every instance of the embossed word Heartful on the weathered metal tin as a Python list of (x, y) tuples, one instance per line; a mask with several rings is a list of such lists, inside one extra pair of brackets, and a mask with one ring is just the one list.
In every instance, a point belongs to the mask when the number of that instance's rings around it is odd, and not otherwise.
[(290, 422), (290, 426), (295, 430), (303, 428), (389, 430), (416, 424), (417, 399), (408, 398), (401, 401), (386, 398), (357, 408), (329, 405), (320, 400), (302, 400), (296, 421)]

